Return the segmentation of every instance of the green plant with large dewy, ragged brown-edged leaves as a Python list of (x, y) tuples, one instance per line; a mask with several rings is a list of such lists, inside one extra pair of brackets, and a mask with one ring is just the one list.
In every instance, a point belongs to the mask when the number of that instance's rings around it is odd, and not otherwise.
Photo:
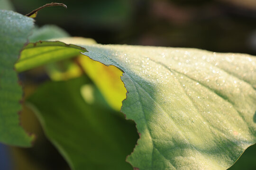
[[(74, 170), (222, 170), (256, 143), (254, 56), (61, 35), (43, 41), (32, 18), (0, 16), (1, 143), (31, 146), (34, 136), (19, 125), (17, 73), (42, 65), (53, 81), (25, 103)], [(51, 67), (71, 58), (64, 72)]]

